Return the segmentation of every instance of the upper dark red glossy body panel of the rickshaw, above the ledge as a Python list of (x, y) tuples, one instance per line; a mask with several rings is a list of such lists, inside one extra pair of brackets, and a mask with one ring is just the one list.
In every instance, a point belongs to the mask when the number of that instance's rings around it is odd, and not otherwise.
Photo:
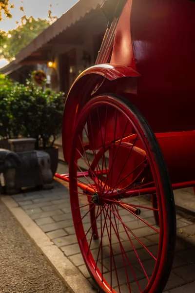
[(195, 129), (195, 1), (128, 0), (111, 63), (140, 73), (134, 103), (154, 132)]

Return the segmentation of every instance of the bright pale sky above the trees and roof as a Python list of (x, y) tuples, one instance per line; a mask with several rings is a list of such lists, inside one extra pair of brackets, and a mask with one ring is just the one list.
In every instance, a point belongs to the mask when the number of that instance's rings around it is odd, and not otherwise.
[[(24, 14), (27, 17), (33, 16), (35, 19), (45, 19), (48, 16), (48, 10), (51, 10), (52, 16), (60, 17), (77, 2), (78, 0), (10, 0), (11, 4), (15, 4), (15, 8), (10, 11), (12, 19), (0, 21), (0, 30), (8, 31), (16, 28), (16, 21), (20, 22)], [(52, 4), (52, 7), (50, 7), (50, 4)], [(24, 13), (20, 11), (20, 6), (24, 7)], [(6, 60), (0, 60), (0, 68), (6, 64)]]

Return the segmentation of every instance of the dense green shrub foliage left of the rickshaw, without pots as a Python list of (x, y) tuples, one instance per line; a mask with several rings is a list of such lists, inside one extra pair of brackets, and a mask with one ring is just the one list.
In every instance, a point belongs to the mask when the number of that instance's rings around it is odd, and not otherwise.
[(0, 89), (1, 104), (5, 116), (0, 118), (1, 137), (33, 137), (36, 148), (53, 146), (62, 123), (63, 93), (43, 90), (30, 81), (26, 86), (15, 83)]

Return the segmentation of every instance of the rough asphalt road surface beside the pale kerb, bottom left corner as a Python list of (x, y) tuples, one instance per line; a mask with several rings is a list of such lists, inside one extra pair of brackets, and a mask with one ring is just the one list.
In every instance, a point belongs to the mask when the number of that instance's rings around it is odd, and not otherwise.
[(0, 293), (70, 293), (2, 203)]

